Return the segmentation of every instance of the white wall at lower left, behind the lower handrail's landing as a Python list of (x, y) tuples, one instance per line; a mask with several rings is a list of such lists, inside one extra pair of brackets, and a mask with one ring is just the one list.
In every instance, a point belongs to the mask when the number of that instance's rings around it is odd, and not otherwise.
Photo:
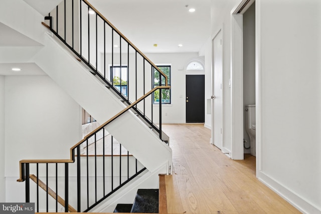
[(6, 177), (21, 159), (69, 159), (81, 138), (81, 108), (48, 76), (7, 76)]

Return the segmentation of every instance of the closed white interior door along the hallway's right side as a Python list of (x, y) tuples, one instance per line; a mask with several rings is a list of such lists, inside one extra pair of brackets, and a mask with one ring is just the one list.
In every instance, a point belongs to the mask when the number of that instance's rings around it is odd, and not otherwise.
[(212, 143), (219, 149), (223, 146), (223, 49), (222, 30), (213, 41), (212, 74)]

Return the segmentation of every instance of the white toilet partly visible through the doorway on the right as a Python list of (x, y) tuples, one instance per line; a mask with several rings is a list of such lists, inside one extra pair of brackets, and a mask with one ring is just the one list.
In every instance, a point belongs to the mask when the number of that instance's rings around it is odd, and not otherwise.
[(250, 137), (250, 146), (251, 146), (251, 155), (256, 156), (255, 154), (255, 132), (256, 132), (256, 123), (255, 123), (255, 105), (245, 105), (245, 130)]

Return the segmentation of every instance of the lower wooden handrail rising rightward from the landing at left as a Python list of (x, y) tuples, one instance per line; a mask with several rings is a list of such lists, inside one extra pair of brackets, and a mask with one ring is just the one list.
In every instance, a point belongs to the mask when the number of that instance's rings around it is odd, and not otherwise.
[(70, 159), (31, 159), (31, 160), (20, 160), (19, 165), (20, 165), (20, 178), (17, 179), (18, 182), (23, 182), (25, 179), (23, 179), (23, 174), (22, 174), (22, 165), (23, 163), (73, 163), (74, 162), (74, 155), (73, 155), (73, 149), (75, 149), (77, 146), (79, 146), (81, 143), (85, 142), (89, 136), (106, 126), (108, 123), (112, 122), (115, 120), (117, 117), (125, 113), (127, 110), (132, 108), (134, 105), (139, 103), (141, 100), (145, 99), (147, 96), (149, 96), (151, 93), (158, 89), (170, 89), (171, 86), (157, 86), (153, 89), (151, 89), (149, 92), (141, 96), (139, 99), (137, 99), (135, 102), (132, 104), (128, 105), (126, 108), (121, 110), (118, 114), (104, 122), (102, 125), (98, 126), (96, 129), (94, 129), (92, 132), (87, 134), (81, 141), (79, 141), (76, 145), (70, 148)]

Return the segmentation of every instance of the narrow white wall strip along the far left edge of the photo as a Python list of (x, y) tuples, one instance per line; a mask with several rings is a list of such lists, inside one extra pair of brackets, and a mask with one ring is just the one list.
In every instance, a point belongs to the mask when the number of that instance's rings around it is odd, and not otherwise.
[(0, 201), (6, 201), (5, 179), (5, 77), (0, 76)]

